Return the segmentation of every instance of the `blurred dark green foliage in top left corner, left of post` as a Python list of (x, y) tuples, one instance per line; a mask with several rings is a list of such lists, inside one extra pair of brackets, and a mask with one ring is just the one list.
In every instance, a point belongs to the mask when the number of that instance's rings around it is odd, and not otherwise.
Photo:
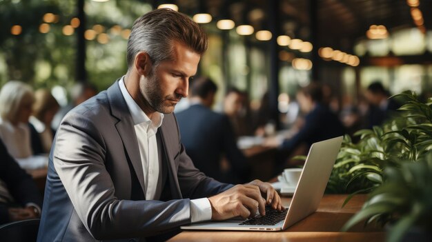
[[(42, 60), (51, 64), (50, 73), (45, 74), (48, 82), (55, 79), (55, 72), (51, 70), (57, 67), (67, 66), (69, 70), (75, 70), (73, 58), (65, 58), (73, 56), (75, 39), (61, 34), (61, 26), (70, 21), (74, 3), (73, 0), (0, 1), (0, 51), (7, 66), (7, 79), (2, 79), (1, 83), (16, 79), (37, 85), (37, 63)], [(50, 24), (52, 31), (43, 34), (39, 32), (39, 26), (47, 12), (57, 14), (58, 19)], [(10, 30), (15, 25), (21, 26), (21, 34), (11, 34)]]

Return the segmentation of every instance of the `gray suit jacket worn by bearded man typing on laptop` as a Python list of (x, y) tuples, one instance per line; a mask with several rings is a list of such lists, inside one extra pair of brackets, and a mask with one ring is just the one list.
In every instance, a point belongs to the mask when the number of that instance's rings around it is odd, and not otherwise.
[(52, 145), (38, 241), (144, 241), (190, 223), (189, 199), (232, 186), (195, 168), (173, 114), (157, 141), (164, 201), (145, 201), (137, 136), (117, 81), (71, 110)]

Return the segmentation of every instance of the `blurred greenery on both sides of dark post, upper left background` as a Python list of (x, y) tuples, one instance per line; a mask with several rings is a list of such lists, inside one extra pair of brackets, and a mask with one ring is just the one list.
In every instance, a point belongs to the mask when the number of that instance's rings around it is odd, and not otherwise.
[[(95, 39), (86, 41), (87, 81), (103, 90), (126, 73), (128, 29), (137, 17), (151, 9), (150, 4), (142, 1), (85, 1), (86, 30), (97, 24), (103, 26)], [(45, 23), (43, 16), (48, 12), (56, 14), (57, 19), (48, 23), (48, 33), (41, 33), (39, 26)], [(72, 86), (77, 33), (66, 36), (62, 29), (76, 15), (76, 0), (0, 1), (0, 84), (14, 79), (34, 88)], [(18, 35), (11, 34), (15, 25), (22, 27)], [(100, 34), (106, 34), (108, 43), (98, 41)]]

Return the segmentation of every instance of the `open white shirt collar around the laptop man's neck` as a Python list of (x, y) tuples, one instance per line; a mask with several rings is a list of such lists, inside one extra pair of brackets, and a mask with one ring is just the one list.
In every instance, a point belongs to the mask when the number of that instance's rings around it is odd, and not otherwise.
[(121, 90), (121, 94), (123, 95), (124, 100), (126, 101), (126, 105), (128, 105), (130, 115), (132, 116), (132, 121), (134, 125), (140, 123), (147, 123), (149, 126), (152, 126), (155, 129), (159, 128), (162, 125), (164, 114), (161, 114), (160, 112), (155, 112), (153, 118), (149, 119), (146, 113), (143, 110), (141, 110), (141, 108), (139, 108), (139, 105), (137, 103), (135, 103), (135, 100), (132, 99), (132, 96), (130, 96), (128, 90), (126, 90), (126, 85), (124, 84), (124, 77), (121, 77), (119, 81), (119, 87)]

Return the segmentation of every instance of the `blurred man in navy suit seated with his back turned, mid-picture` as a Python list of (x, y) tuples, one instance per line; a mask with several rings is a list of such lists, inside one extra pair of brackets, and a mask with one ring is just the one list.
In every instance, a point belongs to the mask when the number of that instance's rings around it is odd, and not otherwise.
[[(228, 117), (213, 112), (217, 85), (201, 77), (191, 84), (190, 107), (176, 114), (181, 143), (195, 167), (208, 177), (228, 183), (242, 183), (248, 179), (249, 165), (237, 148), (233, 128)], [(230, 168), (223, 170), (222, 158)]]

